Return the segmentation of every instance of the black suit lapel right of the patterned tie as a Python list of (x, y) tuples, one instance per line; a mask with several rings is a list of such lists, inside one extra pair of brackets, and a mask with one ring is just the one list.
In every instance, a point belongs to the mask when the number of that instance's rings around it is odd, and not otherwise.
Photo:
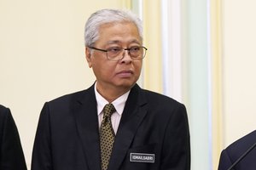
[(137, 127), (147, 113), (146, 99), (143, 98), (142, 89), (135, 85), (125, 104), (125, 110), (119, 123), (118, 133), (115, 138), (111, 160), (108, 169), (118, 170), (124, 161), (127, 150), (134, 139)]

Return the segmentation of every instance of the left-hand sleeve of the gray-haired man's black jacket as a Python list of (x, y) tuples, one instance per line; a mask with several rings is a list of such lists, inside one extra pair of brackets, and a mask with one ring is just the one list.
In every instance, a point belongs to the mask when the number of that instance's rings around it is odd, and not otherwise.
[(32, 150), (32, 170), (52, 170), (49, 107), (45, 103), (38, 121)]

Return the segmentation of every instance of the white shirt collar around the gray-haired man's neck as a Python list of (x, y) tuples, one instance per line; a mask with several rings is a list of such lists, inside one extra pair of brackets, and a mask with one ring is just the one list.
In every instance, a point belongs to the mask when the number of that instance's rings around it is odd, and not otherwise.
[[(102, 95), (97, 92), (97, 90), (96, 90), (96, 83), (94, 85), (94, 91), (95, 91), (95, 94), (96, 94), (97, 115), (100, 115), (102, 113), (102, 110), (103, 110), (104, 106), (108, 104), (108, 100), (104, 99), (102, 97)], [(122, 113), (123, 113), (123, 111), (125, 109), (125, 102), (128, 99), (130, 91), (131, 90), (129, 90), (125, 94), (121, 95), (118, 99), (113, 100), (113, 102), (112, 102), (115, 110), (117, 111), (117, 113), (119, 115), (122, 115)]]

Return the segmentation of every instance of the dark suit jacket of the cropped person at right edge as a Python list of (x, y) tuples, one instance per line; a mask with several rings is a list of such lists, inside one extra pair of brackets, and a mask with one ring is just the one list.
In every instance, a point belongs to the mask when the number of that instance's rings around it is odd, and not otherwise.
[[(235, 161), (242, 156), (254, 143), (256, 142), (256, 131), (247, 134), (241, 139), (236, 140), (230, 144), (225, 150), (221, 152), (218, 170), (227, 170)], [(234, 167), (236, 170), (255, 170), (256, 169), (256, 148), (251, 150)]]

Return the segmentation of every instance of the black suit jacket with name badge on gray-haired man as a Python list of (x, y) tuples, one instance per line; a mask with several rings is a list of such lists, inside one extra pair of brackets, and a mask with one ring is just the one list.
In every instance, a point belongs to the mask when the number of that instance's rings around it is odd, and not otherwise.
[[(154, 162), (131, 161), (131, 153)], [(189, 126), (184, 105), (135, 85), (125, 103), (109, 170), (189, 170)], [(94, 87), (44, 105), (32, 170), (100, 170)]]

